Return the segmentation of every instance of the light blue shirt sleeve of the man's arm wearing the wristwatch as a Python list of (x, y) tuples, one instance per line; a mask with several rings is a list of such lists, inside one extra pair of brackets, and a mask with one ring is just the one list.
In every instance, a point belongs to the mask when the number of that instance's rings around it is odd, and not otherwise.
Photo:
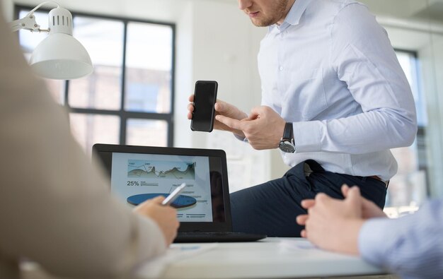
[(343, 119), (294, 123), (297, 152), (371, 153), (409, 146), (415, 105), (386, 32), (362, 4), (345, 6), (330, 28), (330, 64), (362, 112)]

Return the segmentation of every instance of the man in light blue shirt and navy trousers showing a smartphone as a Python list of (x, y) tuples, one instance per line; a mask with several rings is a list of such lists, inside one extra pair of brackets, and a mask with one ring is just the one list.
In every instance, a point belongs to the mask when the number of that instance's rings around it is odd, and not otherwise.
[(258, 150), (280, 148), (292, 169), (231, 194), (234, 230), (297, 237), (301, 200), (320, 192), (343, 198), (343, 184), (383, 208), (397, 171), (389, 148), (409, 146), (417, 131), (413, 95), (385, 30), (352, 0), (238, 5), (254, 25), (269, 26), (258, 54), (262, 103), (248, 115), (218, 100), (214, 128)]

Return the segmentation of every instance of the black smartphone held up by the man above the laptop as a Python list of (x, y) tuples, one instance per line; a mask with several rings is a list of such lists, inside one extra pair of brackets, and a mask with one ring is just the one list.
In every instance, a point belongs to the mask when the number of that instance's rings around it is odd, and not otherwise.
[(217, 81), (197, 81), (194, 91), (194, 112), (191, 130), (210, 132), (214, 128)]

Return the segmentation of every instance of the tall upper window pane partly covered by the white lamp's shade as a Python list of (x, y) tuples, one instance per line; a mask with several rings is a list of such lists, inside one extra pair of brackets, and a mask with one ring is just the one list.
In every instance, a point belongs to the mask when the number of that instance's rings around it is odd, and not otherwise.
[(86, 47), (94, 71), (69, 82), (71, 107), (120, 109), (123, 30), (123, 23), (117, 20), (74, 17), (74, 37)]

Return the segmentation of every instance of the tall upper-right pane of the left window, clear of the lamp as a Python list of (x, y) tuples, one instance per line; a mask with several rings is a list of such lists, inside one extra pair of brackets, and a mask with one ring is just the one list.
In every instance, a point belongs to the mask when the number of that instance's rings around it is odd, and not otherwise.
[(125, 109), (171, 112), (172, 37), (170, 26), (127, 25)]

